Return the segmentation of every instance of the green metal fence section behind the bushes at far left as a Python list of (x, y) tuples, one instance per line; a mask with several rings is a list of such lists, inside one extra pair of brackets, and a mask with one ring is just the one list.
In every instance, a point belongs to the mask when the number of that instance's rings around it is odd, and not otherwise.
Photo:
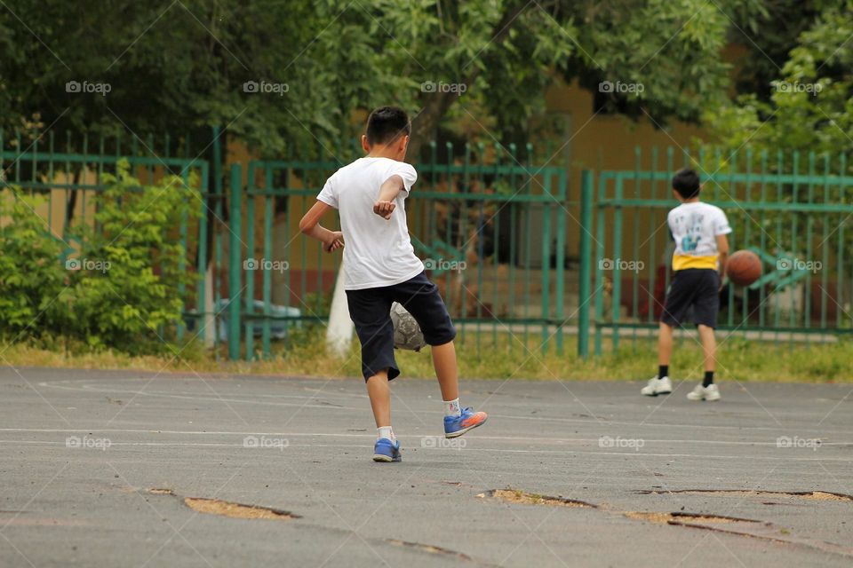
[[(159, 152), (155, 152), (155, 148)], [(180, 157), (175, 157), (176, 154)], [(212, 201), (219, 203), (219, 200), (208, 192), (208, 162), (183, 157), (186, 155), (181, 141), (168, 135), (156, 141), (153, 137), (142, 141), (121, 135), (90, 138), (72, 135), (71, 132), (56, 136), (53, 131), (44, 137), (41, 134), (28, 136), (28, 133), (20, 131), (7, 136), (0, 130), (0, 189), (13, 185), (29, 194), (41, 194), (46, 198), (45, 210), (34, 213), (44, 217), (45, 230), (66, 243), (62, 258), (57, 259), (57, 262), (64, 263), (67, 256), (85, 253), (86, 243), (68, 233), (72, 218), (76, 217), (82, 225), (93, 226), (92, 194), (105, 189), (103, 176), (115, 174), (119, 161), (126, 160), (132, 174), (143, 184), (155, 183), (155, 180), (169, 174), (178, 175), (188, 182), (190, 174), (195, 171), (200, 180), (199, 192), (203, 202), (198, 203), (198, 208), (202, 215), (192, 224), (184, 219), (178, 232), (181, 244), (187, 249), (189, 269), (203, 274), (208, 267), (207, 213), (213, 207)], [(218, 193), (220, 196), (221, 186)], [(221, 208), (221, 205), (217, 207)], [(219, 248), (217, 250), (220, 259), (221, 253)], [(195, 305), (185, 308), (184, 321), (175, 322), (179, 339), (183, 338), (187, 324), (192, 329), (200, 329), (205, 316), (212, 317), (213, 314), (203, 307), (205, 293), (205, 281), (199, 278)]]

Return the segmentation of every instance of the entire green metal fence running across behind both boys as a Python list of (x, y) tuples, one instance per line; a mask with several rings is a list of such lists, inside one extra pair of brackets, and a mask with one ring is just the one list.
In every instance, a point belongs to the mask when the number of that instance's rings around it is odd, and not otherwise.
[[(143, 144), (67, 134), (59, 141), (52, 133), (0, 132), (0, 187), (44, 194), (45, 224), (73, 239), (69, 220), (92, 216), (87, 200), (120, 160), (147, 184), (197, 170), (203, 215), (179, 227), (187, 266), (199, 275), (184, 321), (199, 329), (216, 318), (214, 341), (227, 339), (231, 359), (267, 357), (287, 349), (294, 330), (323, 325), (340, 256), (304, 238), (299, 218), (326, 178), (360, 149), (294, 148), (283, 160), (232, 164), (226, 179), (219, 159), (209, 176), (209, 162), (187, 159), (174, 140), (165, 137), (159, 155), (155, 146), (150, 138)], [(572, 200), (569, 170), (536, 165), (531, 146), (428, 149), (408, 201), (412, 242), (460, 340), (478, 350), (498, 341), (530, 350), (530, 340), (534, 349), (562, 352), (565, 336), (577, 333), (578, 354), (586, 357), (591, 347), (618, 350), (653, 335), (671, 278), (666, 213), (677, 202), (670, 181), (688, 165), (704, 180), (703, 201), (729, 216), (732, 250), (753, 250), (764, 267), (752, 286), (723, 288), (721, 329), (776, 342), (832, 341), (853, 330), (853, 239), (846, 230), (853, 177), (844, 154), (638, 149), (633, 170), (582, 172)], [(76, 242), (66, 254), (84, 246)], [(176, 322), (179, 335), (183, 323)]]

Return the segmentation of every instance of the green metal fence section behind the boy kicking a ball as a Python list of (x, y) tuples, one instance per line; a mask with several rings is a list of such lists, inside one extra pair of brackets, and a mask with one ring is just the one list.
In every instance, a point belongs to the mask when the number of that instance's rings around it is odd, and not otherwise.
[[(542, 349), (562, 351), (563, 326), (574, 321), (566, 317), (566, 234), (567, 208), (577, 203), (567, 200), (567, 171), (535, 165), (530, 146), (429, 149), (407, 215), (460, 341), (476, 332), (478, 349), (499, 338), (527, 349), (536, 336)], [(339, 156), (358, 152), (317, 147), (295, 152), (299, 159), (251, 162), (244, 191), (243, 171), (233, 167), (232, 195), (243, 198), (231, 201), (230, 278), (243, 282), (243, 302), (230, 306), (231, 358), (266, 357), (276, 340), (286, 346), (294, 329), (328, 318), (340, 256), (303, 237), (298, 222), (346, 162)], [(241, 217), (244, 231), (234, 225)]]

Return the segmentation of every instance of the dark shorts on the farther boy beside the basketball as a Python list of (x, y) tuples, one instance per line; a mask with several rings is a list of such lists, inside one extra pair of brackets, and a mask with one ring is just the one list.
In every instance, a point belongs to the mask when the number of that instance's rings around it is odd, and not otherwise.
[(720, 311), (720, 274), (710, 268), (688, 268), (675, 271), (666, 292), (662, 323), (680, 327), (690, 308), (697, 326), (717, 327)]

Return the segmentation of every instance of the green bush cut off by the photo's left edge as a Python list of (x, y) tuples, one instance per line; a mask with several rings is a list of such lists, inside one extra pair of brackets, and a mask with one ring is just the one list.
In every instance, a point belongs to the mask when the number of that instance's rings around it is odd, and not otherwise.
[(52, 321), (63, 288), (61, 242), (36, 209), (46, 200), (0, 191), (0, 335), (37, 335)]

